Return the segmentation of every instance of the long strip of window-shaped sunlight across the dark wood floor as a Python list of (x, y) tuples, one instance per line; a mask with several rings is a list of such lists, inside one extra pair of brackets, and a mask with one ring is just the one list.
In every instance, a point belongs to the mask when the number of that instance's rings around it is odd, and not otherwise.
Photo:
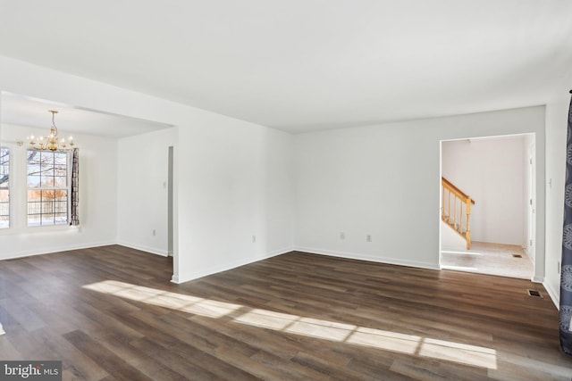
[(218, 302), (187, 294), (171, 293), (146, 286), (105, 280), (83, 286), (88, 290), (112, 294), (137, 302), (146, 302), (172, 310), (262, 327), (295, 335), (306, 335), (340, 343), (361, 345), (383, 351), (400, 352), (476, 367), (497, 369), (497, 354), (492, 348), (406, 335), (335, 321), (306, 318), (282, 312), (250, 309), (230, 302)]

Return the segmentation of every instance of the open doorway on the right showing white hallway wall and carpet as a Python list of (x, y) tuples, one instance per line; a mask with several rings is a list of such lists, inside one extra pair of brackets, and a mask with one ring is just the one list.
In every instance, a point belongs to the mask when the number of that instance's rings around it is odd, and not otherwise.
[(534, 142), (534, 134), (441, 142), (442, 177), (475, 201), (467, 216), (470, 249), (441, 224), (442, 269), (533, 278)]

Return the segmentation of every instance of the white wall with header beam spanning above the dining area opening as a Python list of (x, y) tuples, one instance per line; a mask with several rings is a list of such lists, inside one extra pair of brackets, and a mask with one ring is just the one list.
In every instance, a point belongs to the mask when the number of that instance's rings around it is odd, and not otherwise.
[(289, 134), (2, 56), (0, 90), (177, 127), (173, 281), (291, 250)]

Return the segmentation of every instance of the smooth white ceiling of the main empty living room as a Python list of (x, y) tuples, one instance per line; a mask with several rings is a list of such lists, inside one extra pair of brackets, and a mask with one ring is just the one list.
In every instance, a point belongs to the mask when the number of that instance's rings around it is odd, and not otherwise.
[(0, 54), (303, 132), (544, 104), (572, 1), (0, 0)]

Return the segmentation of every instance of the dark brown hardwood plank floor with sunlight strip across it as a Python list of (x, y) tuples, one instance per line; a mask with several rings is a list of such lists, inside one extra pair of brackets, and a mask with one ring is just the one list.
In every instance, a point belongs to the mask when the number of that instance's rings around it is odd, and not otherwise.
[(307, 253), (171, 275), (118, 245), (0, 261), (0, 359), (88, 380), (572, 377), (558, 311), (526, 280)]

